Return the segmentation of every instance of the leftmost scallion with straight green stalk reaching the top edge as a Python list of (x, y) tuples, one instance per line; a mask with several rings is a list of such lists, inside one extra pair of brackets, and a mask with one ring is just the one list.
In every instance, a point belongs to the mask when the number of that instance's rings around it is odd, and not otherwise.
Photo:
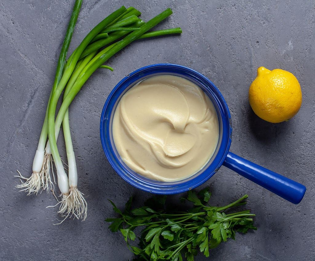
[[(57, 69), (56, 69), (56, 75), (54, 79), (54, 85), (49, 96), (49, 101), (52, 97), (54, 90), (57, 88), (57, 85), (60, 82), (60, 78), (61, 78), (65, 61), (66, 61), (67, 51), (71, 42), (73, 30), (76, 25), (78, 15), (80, 12), (81, 4), (82, 4), (82, 0), (76, 0), (73, 10), (72, 10), (72, 15), (71, 15), (69, 25), (66, 31), (66, 36), (61, 47), (60, 56), (58, 59), (58, 64), (57, 64)], [(48, 174), (47, 171), (45, 171), (45, 169), (43, 169), (45, 160), (46, 161), (48, 160), (49, 162), (51, 162), (51, 159), (49, 160), (45, 158), (45, 155), (44, 155), (45, 144), (46, 144), (47, 134), (48, 134), (47, 119), (48, 119), (48, 106), (46, 109), (45, 119), (44, 119), (42, 131), (40, 134), (39, 142), (37, 145), (37, 150), (36, 150), (35, 157), (33, 160), (32, 175), (29, 178), (26, 178), (22, 176), (21, 173), (18, 171), (19, 173), (18, 177), (20, 179), (24, 179), (25, 182), (21, 180), (22, 184), (17, 185), (17, 187), (21, 188), (21, 191), (27, 192), (28, 193), (27, 195), (37, 194), (41, 188), (49, 191), (49, 184), (50, 184), (50, 189), (53, 189), (53, 186), (54, 186), (51, 181), (50, 175)]]

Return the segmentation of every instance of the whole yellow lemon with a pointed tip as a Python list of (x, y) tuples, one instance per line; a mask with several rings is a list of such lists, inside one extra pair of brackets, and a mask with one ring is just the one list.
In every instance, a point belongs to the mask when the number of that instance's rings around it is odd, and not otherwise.
[(261, 119), (272, 123), (288, 120), (301, 107), (301, 86), (290, 72), (259, 67), (249, 87), (249, 104)]

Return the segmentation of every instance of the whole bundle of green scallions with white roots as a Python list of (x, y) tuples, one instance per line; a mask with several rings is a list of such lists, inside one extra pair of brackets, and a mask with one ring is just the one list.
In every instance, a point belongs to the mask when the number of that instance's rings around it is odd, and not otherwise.
[[(61, 48), (54, 84), (33, 160), (32, 175), (25, 178), (19, 172), (18, 177), (24, 179), (25, 182), (21, 180), (22, 183), (17, 185), (28, 195), (37, 194), (41, 190), (54, 192), (55, 178), (52, 166), (54, 162), (61, 192), (61, 200), (57, 203), (57, 205), (60, 204), (58, 213), (64, 217), (63, 220), (72, 216), (85, 220), (87, 216), (87, 202), (77, 188), (77, 167), (69, 126), (68, 107), (70, 103), (96, 69), (113, 70), (103, 64), (129, 43), (137, 39), (182, 32), (180, 28), (147, 32), (172, 14), (169, 8), (148, 22), (144, 22), (138, 18), (141, 13), (137, 9), (133, 7), (126, 9), (122, 6), (96, 25), (66, 62), (66, 54), (81, 4), (82, 0), (76, 0)], [(57, 103), (63, 90), (63, 101), (55, 118)], [(56, 143), (61, 124), (66, 143), (68, 175), (64, 169)], [(46, 143), (47, 136), (49, 141)], [(50, 168), (52, 173), (50, 173)], [(51, 178), (51, 174), (53, 178)]]

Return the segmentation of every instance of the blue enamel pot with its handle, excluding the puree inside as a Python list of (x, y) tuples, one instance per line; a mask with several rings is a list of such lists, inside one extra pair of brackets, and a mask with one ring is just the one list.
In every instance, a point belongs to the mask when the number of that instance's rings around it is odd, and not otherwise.
[[(208, 164), (191, 177), (175, 182), (151, 180), (134, 172), (120, 158), (112, 136), (113, 115), (123, 94), (137, 82), (161, 74), (177, 75), (197, 84), (209, 96), (219, 119), (219, 142)], [(104, 105), (100, 118), (100, 138), (106, 157), (115, 171), (131, 185), (147, 192), (176, 194), (191, 190), (209, 180), (222, 165), (295, 204), (300, 203), (306, 191), (302, 184), (229, 152), (232, 138), (231, 115), (221, 92), (207, 77), (178, 64), (145, 66), (123, 78)]]

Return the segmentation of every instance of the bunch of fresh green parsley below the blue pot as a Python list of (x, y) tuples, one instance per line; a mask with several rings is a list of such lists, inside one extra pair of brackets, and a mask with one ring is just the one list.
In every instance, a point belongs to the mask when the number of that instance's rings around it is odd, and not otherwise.
[[(251, 218), (255, 214), (250, 214), (249, 210), (223, 212), (246, 204), (244, 200), (248, 195), (224, 207), (210, 206), (210, 197), (208, 188), (199, 193), (189, 191), (182, 200), (188, 200), (194, 206), (186, 212), (174, 208), (165, 210), (166, 196), (154, 196), (144, 207), (134, 209), (131, 209), (131, 197), (124, 212), (110, 201), (120, 217), (106, 221), (112, 222), (109, 226), (112, 232), (120, 230), (130, 251), (135, 253), (135, 260), (182, 261), (185, 257), (187, 261), (193, 261), (198, 249), (209, 257), (209, 249), (217, 247), (222, 241), (226, 242), (228, 238), (235, 240), (236, 231), (246, 233), (249, 229), (257, 229)], [(129, 240), (135, 240), (134, 230), (140, 226), (144, 228), (139, 245), (135, 247), (129, 244)]]

